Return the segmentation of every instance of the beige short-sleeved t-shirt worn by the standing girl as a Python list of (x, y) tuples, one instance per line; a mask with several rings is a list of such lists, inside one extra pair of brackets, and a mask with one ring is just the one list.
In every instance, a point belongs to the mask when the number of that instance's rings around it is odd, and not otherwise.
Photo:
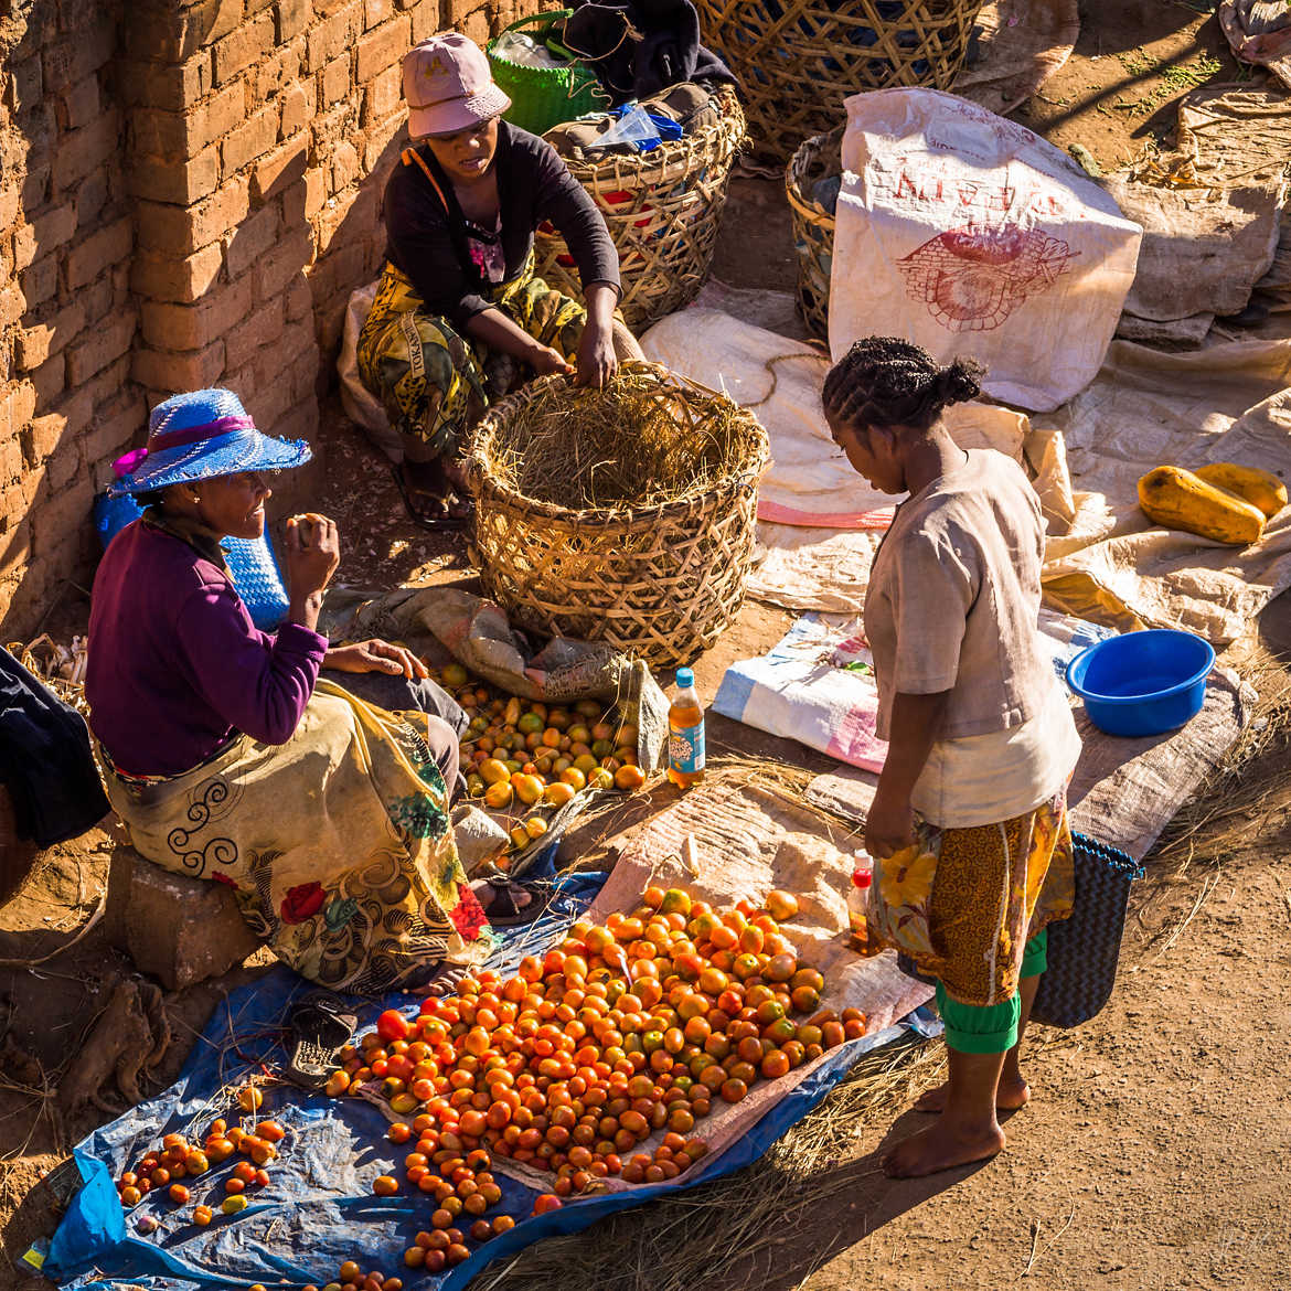
[(899, 692), (949, 691), (939, 738), (959, 740), (1021, 726), (1053, 688), (1037, 626), (1039, 500), (1012, 458), (966, 457), (897, 507), (870, 571), (865, 636), (884, 740)]

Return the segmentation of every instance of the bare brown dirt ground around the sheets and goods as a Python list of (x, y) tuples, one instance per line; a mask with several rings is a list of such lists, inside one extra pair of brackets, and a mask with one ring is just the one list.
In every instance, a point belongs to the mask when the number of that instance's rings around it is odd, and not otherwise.
[[(1243, 75), (1208, 12), (1183, 0), (1088, 0), (1075, 56), (1015, 116), (1113, 167), (1150, 139), (1168, 138), (1174, 103), (1188, 89)], [(732, 182), (714, 271), (735, 285), (791, 288), (789, 218), (777, 182)], [(334, 398), (324, 421), (328, 488), (318, 506), (341, 524), (340, 581), (474, 586), (460, 541), (405, 523), (387, 466)], [(68, 589), (46, 626), (66, 640), (84, 630), (86, 609)], [(760, 653), (790, 621), (780, 609), (746, 604), (696, 666), (705, 701), (732, 660)], [(1260, 626), (1265, 647), (1291, 665), (1291, 602), (1274, 603)], [(710, 741), (719, 755), (829, 767), (795, 744), (720, 718), (710, 720)], [(1250, 776), (1257, 781), (1279, 766), (1285, 746)], [(980, 1168), (893, 1184), (878, 1172), (878, 1153), (920, 1118), (905, 1112), (895, 1123), (865, 1122), (853, 1150), (837, 1162), (848, 1183), (843, 1201), (833, 1194), (816, 1206), (804, 1195), (786, 1215), (784, 1255), (773, 1266), (745, 1268), (729, 1285), (1291, 1286), (1291, 798), (1266, 803), (1261, 821), (1257, 837), (1241, 846), (1226, 835), (1201, 837), (1184, 873), (1174, 859), (1149, 859), (1117, 993), (1087, 1026), (1042, 1034), (1029, 1064), (1035, 1097), (1008, 1121), (1004, 1154)], [(111, 990), (132, 979), (132, 966), (96, 928), (31, 967), (93, 910), (110, 847), (94, 831), (44, 853), (0, 906), (0, 1241), (8, 1256), (0, 1288), (48, 1287), (13, 1264), (53, 1223), (41, 1175), (111, 1115), (66, 1106), (58, 1086)], [(150, 1092), (178, 1072), (219, 994), (261, 971), (252, 963), (168, 998), (170, 1042)], [(655, 1214), (647, 1207), (640, 1223), (656, 1223)], [(586, 1241), (595, 1243), (595, 1233)]]

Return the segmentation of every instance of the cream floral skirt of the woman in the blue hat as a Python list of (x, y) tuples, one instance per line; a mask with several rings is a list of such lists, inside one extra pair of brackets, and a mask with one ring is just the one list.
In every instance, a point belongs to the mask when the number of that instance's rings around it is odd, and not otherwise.
[(241, 736), (192, 771), (142, 780), (103, 759), (105, 784), (141, 856), (227, 883), (250, 930), (303, 977), (380, 994), (494, 944), (423, 723), (320, 680), (287, 744)]

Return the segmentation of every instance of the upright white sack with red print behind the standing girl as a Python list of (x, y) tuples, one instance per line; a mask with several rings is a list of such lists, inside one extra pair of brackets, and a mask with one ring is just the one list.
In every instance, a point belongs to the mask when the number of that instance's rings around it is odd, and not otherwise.
[(1143, 230), (1044, 139), (953, 94), (847, 99), (829, 346), (900, 336), (1048, 412), (1093, 380)]

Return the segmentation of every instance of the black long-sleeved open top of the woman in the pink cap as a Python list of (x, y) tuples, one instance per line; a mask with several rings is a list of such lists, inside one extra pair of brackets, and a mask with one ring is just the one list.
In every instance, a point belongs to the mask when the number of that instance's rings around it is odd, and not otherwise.
[[(396, 165), (386, 185), (386, 258), (412, 279), (431, 314), (461, 328), (489, 309), (484, 296), (487, 284), (465, 253), (462, 217), (452, 183), (426, 145), (418, 151), (453, 209), (444, 209), (421, 167)], [(502, 121), (493, 164), (506, 256), (505, 281), (524, 267), (533, 231), (550, 219), (569, 247), (584, 289), (593, 283), (608, 283), (618, 290), (618, 253), (605, 221), (555, 148), (536, 134)]]

